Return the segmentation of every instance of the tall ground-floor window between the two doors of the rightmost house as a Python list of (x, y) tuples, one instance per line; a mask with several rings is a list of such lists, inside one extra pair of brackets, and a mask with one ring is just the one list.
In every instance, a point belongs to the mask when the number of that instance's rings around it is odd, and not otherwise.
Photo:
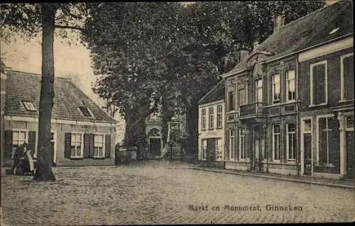
[(335, 117), (318, 120), (318, 162), (321, 165), (339, 164), (339, 125)]

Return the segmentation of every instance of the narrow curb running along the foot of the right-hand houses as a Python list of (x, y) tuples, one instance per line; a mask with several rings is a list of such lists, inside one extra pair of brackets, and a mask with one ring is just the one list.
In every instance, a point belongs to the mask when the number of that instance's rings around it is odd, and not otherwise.
[(336, 183), (323, 183), (323, 182), (317, 182), (317, 181), (305, 181), (305, 180), (297, 180), (297, 179), (288, 179), (288, 178), (282, 178), (282, 177), (276, 177), (276, 176), (244, 174), (244, 173), (239, 173), (239, 172), (222, 171), (222, 170), (215, 170), (215, 169), (202, 169), (202, 168), (198, 168), (198, 167), (190, 167), (189, 169), (195, 169), (195, 170), (201, 170), (201, 171), (210, 171), (210, 172), (222, 173), (222, 174), (234, 174), (234, 175), (241, 175), (241, 176), (255, 176), (255, 177), (260, 177), (260, 178), (265, 178), (265, 179), (276, 179), (276, 180), (280, 180), (280, 181), (290, 181), (290, 182), (295, 182), (295, 183), (310, 183), (310, 184), (315, 184), (315, 185), (320, 185), (320, 186), (331, 186), (331, 187), (337, 187), (337, 188), (355, 189), (355, 186), (336, 184)]

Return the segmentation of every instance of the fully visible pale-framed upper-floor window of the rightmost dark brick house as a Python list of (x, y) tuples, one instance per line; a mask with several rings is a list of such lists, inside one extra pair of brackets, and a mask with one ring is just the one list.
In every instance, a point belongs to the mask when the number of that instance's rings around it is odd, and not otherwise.
[(326, 104), (327, 94), (327, 61), (310, 66), (310, 105)]

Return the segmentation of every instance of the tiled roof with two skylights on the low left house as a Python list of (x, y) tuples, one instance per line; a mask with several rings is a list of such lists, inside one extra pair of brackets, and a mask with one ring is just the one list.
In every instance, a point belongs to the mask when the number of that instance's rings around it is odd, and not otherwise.
[[(6, 115), (29, 116), (38, 115), (40, 101), (40, 74), (8, 71), (6, 79)], [(82, 120), (103, 123), (116, 123), (104, 110), (85, 95), (71, 79), (55, 77), (54, 105), (52, 118), (63, 120)], [(37, 111), (27, 111), (23, 101), (31, 101)], [(89, 108), (94, 115), (83, 116), (79, 106)]]

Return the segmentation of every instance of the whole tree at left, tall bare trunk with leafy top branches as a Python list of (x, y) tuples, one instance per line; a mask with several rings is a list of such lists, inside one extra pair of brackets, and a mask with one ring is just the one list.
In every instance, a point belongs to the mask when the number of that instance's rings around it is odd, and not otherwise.
[[(9, 42), (18, 33), (21, 38), (42, 36), (42, 81), (38, 119), (38, 168), (35, 181), (55, 181), (50, 159), (50, 118), (54, 98), (55, 28), (83, 31), (76, 22), (87, 15), (85, 4), (1, 4), (1, 38)], [(58, 35), (67, 38), (67, 31)]]

